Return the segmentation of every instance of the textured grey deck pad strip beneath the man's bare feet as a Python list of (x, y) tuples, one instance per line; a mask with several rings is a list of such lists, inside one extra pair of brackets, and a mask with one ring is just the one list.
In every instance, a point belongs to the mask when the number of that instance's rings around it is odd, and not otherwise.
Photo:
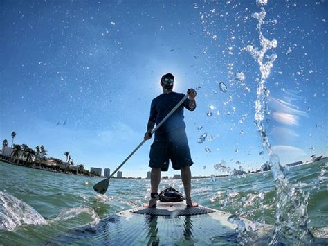
[(201, 205), (197, 207), (187, 207), (185, 202), (158, 202), (155, 208), (139, 207), (137, 209), (131, 209), (131, 213), (176, 217), (215, 213), (215, 210), (208, 209)]

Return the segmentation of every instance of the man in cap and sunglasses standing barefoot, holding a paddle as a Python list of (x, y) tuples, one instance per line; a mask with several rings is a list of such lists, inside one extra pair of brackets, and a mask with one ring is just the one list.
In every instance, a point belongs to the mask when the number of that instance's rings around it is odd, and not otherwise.
[[(145, 140), (152, 138), (152, 130), (174, 108), (175, 105), (185, 96), (182, 93), (173, 91), (174, 76), (167, 73), (161, 78), (163, 93), (152, 100), (150, 116), (147, 124)], [(150, 184), (151, 198), (146, 207), (155, 207), (158, 199), (158, 185), (161, 182), (161, 171), (167, 171), (169, 161), (172, 162), (174, 170), (181, 170), (181, 180), (185, 189), (185, 200), (188, 207), (196, 207), (197, 203), (192, 202), (191, 192), (191, 172), (190, 166), (193, 162), (190, 156), (187, 135), (185, 134), (185, 122), (183, 121), (183, 108), (193, 111), (196, 108), (194, 98), (197, 92), (188, 89), (188, 98), (176, 111), (159, 127), (155, 132), (154, 143), (150, 148), (149, 167), (152, 168)]]

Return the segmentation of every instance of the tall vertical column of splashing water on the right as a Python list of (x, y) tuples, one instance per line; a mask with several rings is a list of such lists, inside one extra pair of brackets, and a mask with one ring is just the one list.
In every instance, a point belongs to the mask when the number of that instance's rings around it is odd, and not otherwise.
[[(266, 0), (257, 0), (257, 5), (265, 6)], [(257, 19), (257, 30), (259, 31), (259, 42), (262, 49), (258, 49), (252, 45), (246, 46), (246, 51), (252, 55), (261, 72), (261, 78), (257, 83), (257, 100), (255, 101), (255, 125), (262, 139), (263, 147), (268, 151), (269, 163), (273, 176), (275, 178), (275, 188), (277, 192), (276, 204), (276, 224), (275, 231), (271, 237), (270, 245), (278, 243), (293, 244), (308, 244), (311, 241), (309, 230), (307, 229), (307, 199), (308, 195), (302, 191), (295, 191), (295, 188), (289, 184), (284, 170), (280, 165), (280, 160), (277, 155), (271, 150), (270, 141), (266, 135), (264, 128), (264, 118), (267, 114), (266, 98), (268, 90), (264, 87), (266, 78), (268, 78), (273, 62), (277, 59), (275, 53), (266, 55), (266, 52), (277, 47), (277, 40), (268, 40), (262, 33), (262, 25), (266, 22), (266, 11), (261, 7), (261, 12), (255, 12), (252, 15)], [(275, 23), (275, 21), (271, 21)]]

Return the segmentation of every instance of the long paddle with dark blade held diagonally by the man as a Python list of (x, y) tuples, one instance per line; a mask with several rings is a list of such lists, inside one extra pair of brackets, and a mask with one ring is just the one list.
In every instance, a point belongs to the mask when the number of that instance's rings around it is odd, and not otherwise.
[[(188, 90), (188, 92), (189, 92), (189, 90)], [(160, 122), (160, 123), (158, 123), (158, 125), (156, 125), (156, 128), (154, 128), (153, 130), (152, 130), (152, 132), (151, 132), (151, 134), (153, 134), (154, 132), (156, 132), (156, 130), (167, 120), (167, 118), (169, 118), (170, 116), (171, 116), (171, 114), (173, 114), (175, 111), (176, 111), (176, 109), (178, 109), (178, 107), (180, 107), (180, 105), (185, 101), (185, 99), (187, 99), (188, 98), (188, 94), (187, 95), (185, 95), (185, 96), (183, 96), (183, 98), (180, 100), (180, 102), (177, 104), (177, 105), (175, 105), (175, 107), (170, 111), (170, 113), (168, 113), (167, 114), (167, 116), (165, 116), (165, 118), (163, 118), (163, 120)], [(98, 193), (100, 193), (100, 194), (102, 194), (102, 195), (104, 195), (104, 193), (106, 193), (106, 191), (107, 191), (107, 188), (108, 188), (108, 184), (109, 184), (109, 179), (111, 178), (111, 177), (113, 177), (113, 175), (125, 164), (125, 162), (127, 162), (127, 160), (128, 159), (130, 159), (130, 157), (132, 156), (132, 155), (134, 155), (134, 153), (143, 145), (143, 143), (145, 143), (145, 139), (143, 139), (143, 141), (141, 142), (141, 143), (139, 143), (139, 145), (131, 152), (131, 154), (130, 155), (128, 155), (128, 157), (127, 158), (125, 158), (125, 160), (122, 162), (122, 164), (120, 164), (120, 166), (118, 166), (118, 168), (116, 168), (114, 171), (113, 171), (113, 173), (111, 174), (111, 176), (109, 176), (109, 177), (107, 177), (107, 179), (104, 179), (104, 180), (102, 180), (102, 181), (100, 181), (100, 182), (98, 182), (97, 184), (95, 184), (94, 186), (93, 186), (93, 189), (95, 190), (95, 191), (97, 191)]]

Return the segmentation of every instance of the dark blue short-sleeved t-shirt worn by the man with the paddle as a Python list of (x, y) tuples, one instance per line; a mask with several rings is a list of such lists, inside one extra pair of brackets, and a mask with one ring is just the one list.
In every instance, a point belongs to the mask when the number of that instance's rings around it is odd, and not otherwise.
[[(177, 105), (180, 100), (185, 96), (183, 93), (164, 93), (152, 100), (152, 105), (150, 106), (150, 116), (149, 121), (155, 122), (156, 125), (160, 123), (165, 116)], [(185, 128), (185, 122), (183, 121), (183, 107), (186, 109), (193, 111), (189, 107), (189, 98), (185, 99), (183, 104), (176, 109), (176, 111), (161, 125), (158, 130), (156, 130), (155, 134), (165, 134), (167, 132), (171, 132), (172, 130), (177, 130), (179, 128)]]

